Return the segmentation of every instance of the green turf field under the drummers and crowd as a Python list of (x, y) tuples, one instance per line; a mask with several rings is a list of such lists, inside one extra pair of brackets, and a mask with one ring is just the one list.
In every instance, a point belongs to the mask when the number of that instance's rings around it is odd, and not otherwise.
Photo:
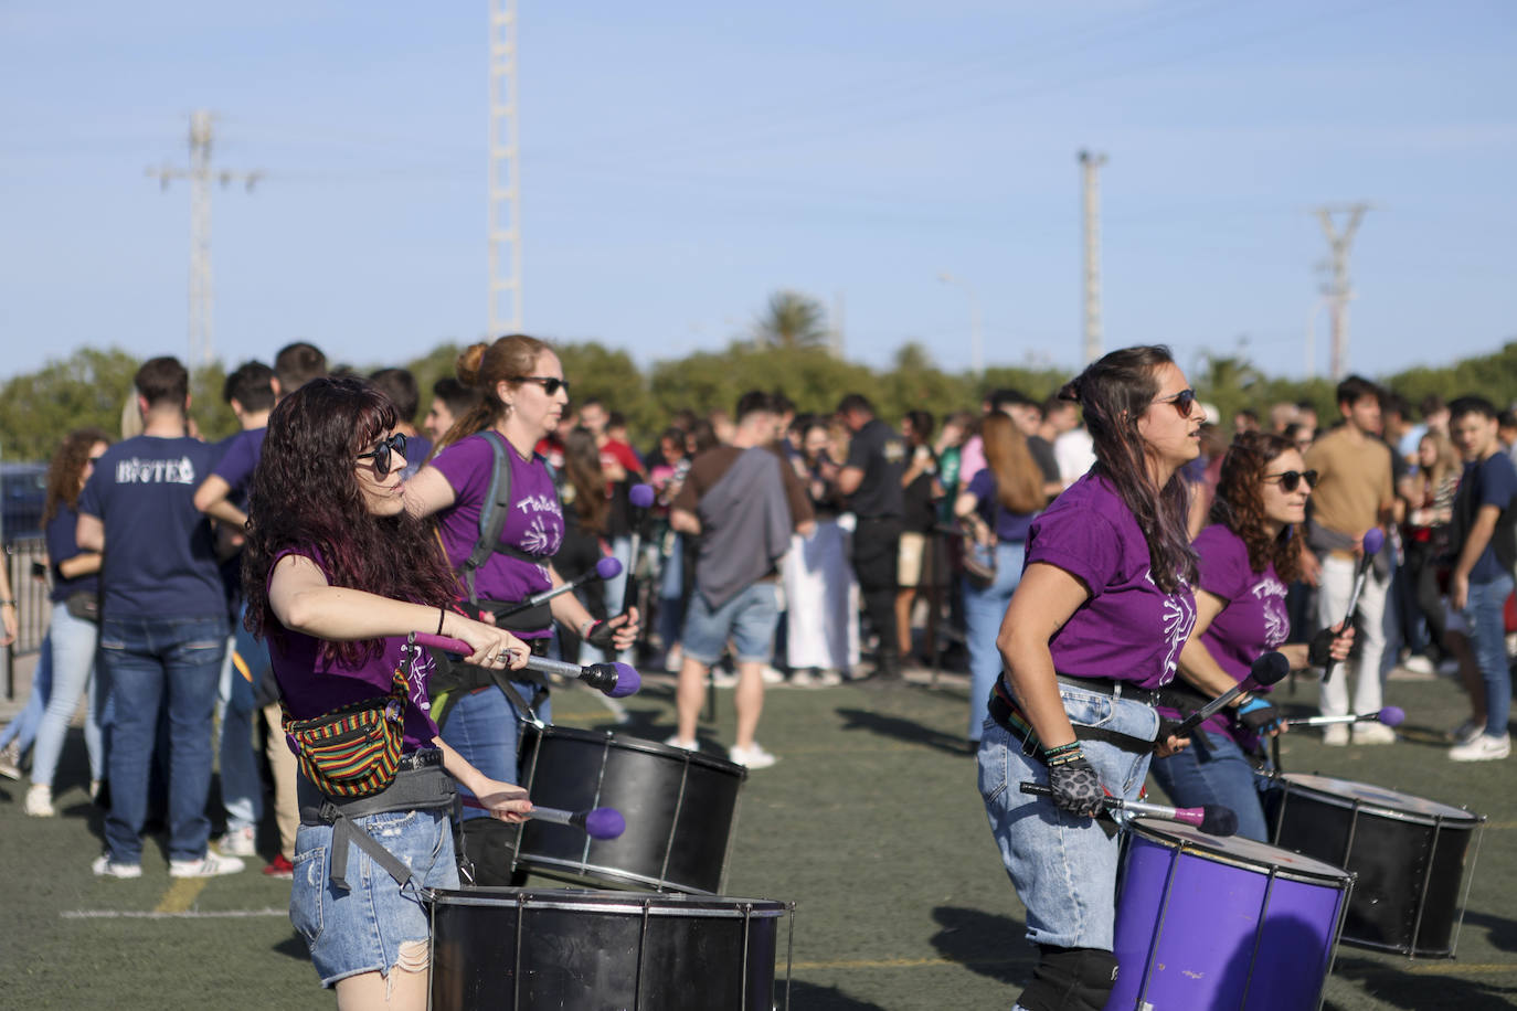
[[(1283, 700), (1306, 711), (1314, 697), (1305, 685)], [(743, 790), (727, 891), (796, 903), (792, 1006), (1009, 1008), (1025, 981), (1032, 949), (1022, 908), (986, 828), (974, 761), (960, 746), (965, 699), (963, 682), (947, 679), (939, 688), (769, 693), (760, 740), (781, 761)], [(622, 732), (654, 740), (671, 732), (667, 684), (649, 684), (628, 702), (633, 718)], [(1408, 712), (1400, 744), (1326, 749), (1297, 732), (1286, 737), (1283, 765), (1468, 805), (1490, 822), (1459, 958), (1408, 961), (1341, 946), (1326, 1006), (1514, 1006), (1517, 759), (1456, 765), (1444, 758), (1440, 731), (1462, 715), (1447, 681), (1396, 681), (1387, 702)], [(730, 743), (731, 693), (719, 693), (719, 703), (718, 723), (704, 732)], [(554, 706), (560, 725), (610, 726), (583, 691), (558, 693)], [(76, 732), (59, 775), (61, 817), (24, 817), (23, 787), (0, 781), (0, 865), (11, 878), (0, 906), (0, 1006), (334, 1005), (285, 919), (288, 885), (256, 865), (173, 882), (159, 838), (147, 844), (140, 881), (93, 878), (100, 819), (86, 802), (85, 776)]]

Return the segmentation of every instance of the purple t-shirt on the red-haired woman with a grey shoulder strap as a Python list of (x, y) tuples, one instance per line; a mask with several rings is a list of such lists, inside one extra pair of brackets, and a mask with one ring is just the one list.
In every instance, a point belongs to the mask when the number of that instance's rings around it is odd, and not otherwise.
[[(487, 438), (482, 432), (470, 435), (432, 461), (432, 467), (454, 490), (452, 508), (437, 515), (443, 550), (454, 571), (463, 568), (479, 540), (479, 512), (490, 494), (490, 474), (495, 468), (495, 450)], [(501, 541), (542, 561), (529, 562), (499, 552), (490, 555), (475, 573), (475, 593), (481, 600), (525, 600), (548, 590), (552, 585), (548, 564), (564, 540), (564, 514), (548, 464), (539, 455), (529, 461), (522, 459), (510, 447), (505, 458), (511, 465), (511, 512), (501, 531)], [(531, 637), (528, 632), (523, 638)]]

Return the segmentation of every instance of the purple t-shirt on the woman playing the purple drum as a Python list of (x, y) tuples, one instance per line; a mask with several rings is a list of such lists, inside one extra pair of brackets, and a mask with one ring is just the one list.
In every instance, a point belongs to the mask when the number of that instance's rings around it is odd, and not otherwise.
[(1195, 594), (1189, 587), (1164, 593), (1154, 585), (1138, 520), (1104, 477), (1085, 474), (1033, 520), (1027, 564), (1033, 562), (1057, 565), (1091, 591), (1048, 640), (1054, 670), (1141, 688), (1174, 679), (1195, 626)]

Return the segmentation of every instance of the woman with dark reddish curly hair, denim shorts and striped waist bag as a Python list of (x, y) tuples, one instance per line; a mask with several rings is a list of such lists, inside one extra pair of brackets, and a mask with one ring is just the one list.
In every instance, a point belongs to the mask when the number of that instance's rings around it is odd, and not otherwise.
[(523, 665), (528, 649), (451, 606), (452, 573), (405, 512), (405, 437), (394, 426), (390, 400), (361, 379), (314, 379), (285, 397), (269, 418), (243, 549), (247, 628), (269, 641), (290, 720), (387, 694), (394, 705), (404, 693), (390, 787), (352, 802), (303, 772), (299, 782), (290, 920), (338, 1008), (426, 1006), (419, 888), (458, 887), (454, 781), (492, 817), (520, 822), (531, 811), (525, 791), (438, 738), (426, 653), (413, 662), (404, 653), (417, 631), (463, 640), (469, 661), (493, 670)]

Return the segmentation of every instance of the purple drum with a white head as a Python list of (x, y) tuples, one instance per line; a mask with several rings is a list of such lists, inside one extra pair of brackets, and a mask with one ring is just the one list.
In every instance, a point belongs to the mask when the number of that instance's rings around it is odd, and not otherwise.
[(1353, 878), (1245, 838), (1133, 823), (1106, 1011), (1321, 1006)]

